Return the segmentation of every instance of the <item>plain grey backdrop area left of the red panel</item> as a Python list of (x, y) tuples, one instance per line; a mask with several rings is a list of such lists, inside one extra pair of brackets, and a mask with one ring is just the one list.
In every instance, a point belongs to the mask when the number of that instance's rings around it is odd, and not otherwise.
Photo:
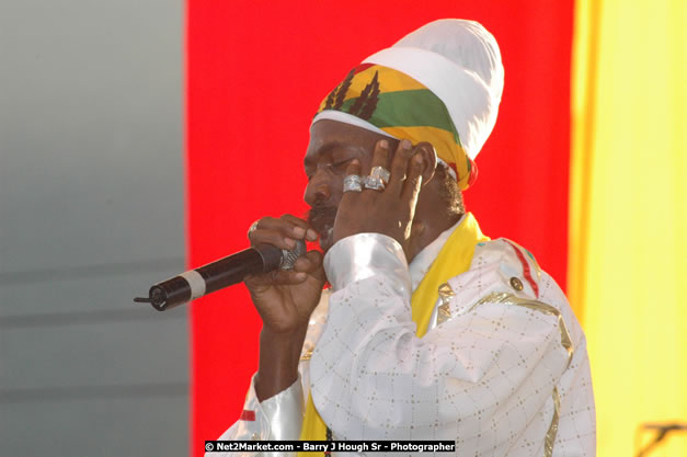
[(183, 2), (0, 0), (0, 456), (188, 454)]

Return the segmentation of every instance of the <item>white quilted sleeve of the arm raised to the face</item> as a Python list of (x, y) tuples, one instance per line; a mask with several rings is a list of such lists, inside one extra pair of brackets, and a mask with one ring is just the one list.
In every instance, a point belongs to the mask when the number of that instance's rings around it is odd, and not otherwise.
[[(334, 294), (310, 384), (337, 439), (455, 439), (460, 455), (502, 456), (531, 434), (541, 449), (552, 391), (570, 362), (557, 316), (471, 306), (470, 296), (465, 312), (417, 339), (398, 242), (378, 233), (345, 238), (324, 267)], [(507, 290), (503, 281), (482, 287), (480, 277), (472, 284), (482, 296)], [(456, 290), (454, 300), (465, 298)]]

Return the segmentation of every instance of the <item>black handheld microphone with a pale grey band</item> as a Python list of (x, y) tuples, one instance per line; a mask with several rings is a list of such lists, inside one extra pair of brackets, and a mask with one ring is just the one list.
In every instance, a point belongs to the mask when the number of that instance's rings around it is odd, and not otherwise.
[(158, 311), (164, 311), (241, 283), (250, 274), (291, 270), (305, 253), (304, 240), (296, 240), (291, 250), (260, 244), (158, 283), (148, 290), (148, 298), (136, 297), (134, 301), (150, 304)]

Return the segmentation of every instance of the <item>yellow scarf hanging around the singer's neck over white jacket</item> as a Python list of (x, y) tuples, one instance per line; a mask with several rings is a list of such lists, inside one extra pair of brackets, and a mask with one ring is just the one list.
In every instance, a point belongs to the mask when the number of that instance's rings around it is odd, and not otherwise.
[[(411, 298), (412, 318), (417, 325), (415, 332), (417, 338), (424, 336), (427, 332), (434, 305), (438, 299), (439, 286), (470, 269), (474, 247), (481, 241), (489, 241), (489, 238), (482, 235), (472, 214), (466, 214), (462, 222), (450, 235)], [(312, 395), (308, 396), (300, 439), (327, 439), (327, 425), (314, 408)], [(298, 456), (305, 457), (312, 454), (323, 455), (323, 453), (298, 453)]]

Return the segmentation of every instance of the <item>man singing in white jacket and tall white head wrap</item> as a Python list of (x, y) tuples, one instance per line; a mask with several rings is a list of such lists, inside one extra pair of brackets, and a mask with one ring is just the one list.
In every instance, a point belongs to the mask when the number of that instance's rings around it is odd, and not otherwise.
[(260, 364), (220, 439), (595, 455), (586, 342), (563, 293), (527, 250), (482, 235), (462, 204), (503, 76), (484, 27), (440, 20), (324, 98), (305, 158), (308, 221), (267, 217), (249, 231), (284, 249), (319, 237), (324, 256), (247, 278), (263, 320)]

